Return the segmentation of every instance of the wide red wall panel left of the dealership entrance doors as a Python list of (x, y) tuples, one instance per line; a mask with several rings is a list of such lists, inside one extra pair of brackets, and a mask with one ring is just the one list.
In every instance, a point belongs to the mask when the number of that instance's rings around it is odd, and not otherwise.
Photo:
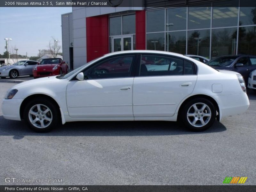
[(108, 15), (86, 17), (87, 62), (108, 53)]

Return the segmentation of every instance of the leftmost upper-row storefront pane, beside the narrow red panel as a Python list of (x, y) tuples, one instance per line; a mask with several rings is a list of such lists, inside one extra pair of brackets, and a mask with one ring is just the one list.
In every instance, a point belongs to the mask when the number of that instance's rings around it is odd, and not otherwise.
[(164, 12), (164, 9), (147, 12), (147, 32), (164, 31)]

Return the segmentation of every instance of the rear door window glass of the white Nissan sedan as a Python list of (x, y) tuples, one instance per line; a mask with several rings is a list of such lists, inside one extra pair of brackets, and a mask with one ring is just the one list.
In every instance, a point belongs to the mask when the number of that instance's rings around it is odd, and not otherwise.
[(176, 57), (141, 55), (139, 76), (171, 76), (194, 74), (193, 63)]

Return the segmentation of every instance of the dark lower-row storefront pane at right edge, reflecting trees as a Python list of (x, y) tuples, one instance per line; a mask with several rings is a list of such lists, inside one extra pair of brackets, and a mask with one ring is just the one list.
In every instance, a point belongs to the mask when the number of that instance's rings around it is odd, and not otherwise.
[(238, 54), (256, 55), (256, 27), (240, 27)]

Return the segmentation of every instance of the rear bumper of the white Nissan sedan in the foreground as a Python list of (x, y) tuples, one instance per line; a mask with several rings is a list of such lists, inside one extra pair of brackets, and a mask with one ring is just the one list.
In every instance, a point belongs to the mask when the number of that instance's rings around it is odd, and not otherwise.
[(236, 95), (217, 96), (220, 108), (220, 120), (223, 117), (244, 113), (249, 105), (249, 99), (246, 93)]

